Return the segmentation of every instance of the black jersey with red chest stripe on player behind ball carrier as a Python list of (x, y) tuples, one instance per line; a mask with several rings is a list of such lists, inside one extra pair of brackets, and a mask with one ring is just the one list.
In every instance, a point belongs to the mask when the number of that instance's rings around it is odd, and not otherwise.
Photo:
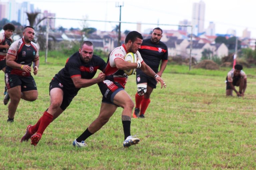
[(167, 46), (161, 41), (155, 44), (150, 39), (145, 39), (141, 44), (139, 52), (145, 63), (156, 73), (158, 72), (160, 61), (168, 60)]

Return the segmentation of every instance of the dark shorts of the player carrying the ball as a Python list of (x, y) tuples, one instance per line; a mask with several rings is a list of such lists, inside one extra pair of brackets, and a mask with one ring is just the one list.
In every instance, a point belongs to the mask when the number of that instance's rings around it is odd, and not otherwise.
[(113, 103), (115, 95), (121, 90), (124, 90), (123, 86), (121, 86), (119, 83), (112, 82), (110, 80), (104, 80), (103, 82), (98, 83), (98, 86), (102, 94), (101, 102), (112, 105), (116, 105)]

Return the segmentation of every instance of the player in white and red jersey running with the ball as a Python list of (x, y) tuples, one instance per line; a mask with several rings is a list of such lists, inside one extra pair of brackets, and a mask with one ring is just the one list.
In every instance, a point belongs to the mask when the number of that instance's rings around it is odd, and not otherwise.
[[(161, 88), (165, 83), (160, 76), (145, 63), (138, 51), (142, 43), (142, 35), (136, 31), (128, 33), (125, 38), (125, 43), (122, 46), (116, 47), (111, 51), (104, 73), (106, 79), (98, 83), (102, 93), (102, 103), (98, 118), (74, 140), (73, 145), (77, 147), (86, 146), (84, 140), (102, 128), (114, 114), (117, 107), (122, 107), (122, 124), (124, 130), (124, 147), (137, 144), (140, 140), (131, 136), (131, 115), (134, 103), (129, 94), (124, 90), (128, 76), (124, 70), (141, 68), (147, 75), (154, 77), (157, 82), (161, 83)], [(124, 57), (128, 52), (136, 53), (137, 63), (124, 61)]]

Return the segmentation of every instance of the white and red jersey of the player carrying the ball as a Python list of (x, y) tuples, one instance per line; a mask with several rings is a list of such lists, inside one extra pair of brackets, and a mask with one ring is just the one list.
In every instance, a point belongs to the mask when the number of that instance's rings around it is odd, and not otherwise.
[[(106, 80), (117, 82), (120, 85), (122, 85), (123, 88), (127, 82), (128, 75), (123, 70), (119, 70), (116, 68), (115, 59), (120, 58), (124, 60), (124, 57), (126, 54), (127, 54), (127, 49), (125, 48), (124, 44), (119, 47), (116, 47), (109, 54), (107, 65), (104, 70), (104, 73), (106, 74)], [(134, 54), (134, 56), (137, 57), (137, 59), (139, 59), (141, 63), (143, 62), (143, 59), (139, 51), (137, 51)]]

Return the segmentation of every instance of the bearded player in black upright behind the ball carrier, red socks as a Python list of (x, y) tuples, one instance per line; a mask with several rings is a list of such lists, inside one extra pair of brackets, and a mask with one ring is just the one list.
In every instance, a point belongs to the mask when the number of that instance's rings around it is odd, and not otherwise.
[[(160, 77), (162, 76), (164, 69), (168, 61), (167, 46), (161, 42), (162, 29), (154, 28), (151, 38), (143, 40), (139, 52), (145, 63), (156, 72)], [(160, 70), (158, 67), (160, 65)], [(133, 118), (144, 118), (144, 114), (150, 103), (150, 95), (153, 89), (156, 88), (156, 80), (141, 71), (136, 70), (136, 83), (137, 93), (135, 94), (135, 109), (133, 112)]]

